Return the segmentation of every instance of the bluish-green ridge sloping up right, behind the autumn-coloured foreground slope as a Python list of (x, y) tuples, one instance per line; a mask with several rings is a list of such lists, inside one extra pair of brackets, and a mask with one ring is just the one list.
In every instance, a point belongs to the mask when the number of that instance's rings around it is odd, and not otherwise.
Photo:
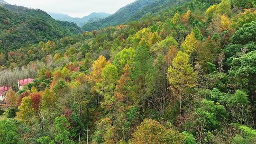
[(107, 18), (85, 24), (82, 30), (98, 30), (103, 27), (128, 23), (148, 14), (159, 12), (161, 9), (168, 9), (174, 5), (180, 5), (185, 1), (189, 0), (136, 0)]

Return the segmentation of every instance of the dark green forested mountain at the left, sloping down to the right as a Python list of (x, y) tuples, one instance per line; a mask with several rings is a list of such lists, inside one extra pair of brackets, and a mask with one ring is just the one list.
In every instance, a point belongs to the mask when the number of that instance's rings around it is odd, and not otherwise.
[(40, 9), (9, 4), (0, 6), (0, 52), (79, 33), (80, 27), (56, 21)]

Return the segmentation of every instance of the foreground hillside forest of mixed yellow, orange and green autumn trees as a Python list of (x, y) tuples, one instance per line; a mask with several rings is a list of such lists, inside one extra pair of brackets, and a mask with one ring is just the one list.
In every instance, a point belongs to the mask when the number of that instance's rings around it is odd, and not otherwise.
[(0, 52), (0, 144), (256, 144), (255, 0), (150, 9)]

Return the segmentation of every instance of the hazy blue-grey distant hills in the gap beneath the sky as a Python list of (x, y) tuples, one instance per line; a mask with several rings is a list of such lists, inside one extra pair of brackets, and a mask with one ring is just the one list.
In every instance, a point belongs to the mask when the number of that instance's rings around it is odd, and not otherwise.
[(110, 16), (110, 14), (104, 13), (104, 12), (93, 12), (90, 15), (85, 16), (83, 18), (73, 18), (73, 17), (70, 17), (69, 15), (58, 14), (58, 13), (48, 13), (48, 14), (56, 20), (76, 23), (79, 27), (82, 27), (84, 24), (88, 22), (94, 22), (96, 20), (100, 20), (101, 18), (106, 18)]

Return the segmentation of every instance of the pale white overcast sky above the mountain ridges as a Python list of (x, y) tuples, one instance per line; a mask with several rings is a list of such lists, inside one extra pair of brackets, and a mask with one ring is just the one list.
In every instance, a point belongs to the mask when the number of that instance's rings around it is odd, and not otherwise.
[(9, 4), (46, 12), (62, 13), (72, 17), (83, 17), (91, 12), (114, 13), (135, 0), (5, 0)]

